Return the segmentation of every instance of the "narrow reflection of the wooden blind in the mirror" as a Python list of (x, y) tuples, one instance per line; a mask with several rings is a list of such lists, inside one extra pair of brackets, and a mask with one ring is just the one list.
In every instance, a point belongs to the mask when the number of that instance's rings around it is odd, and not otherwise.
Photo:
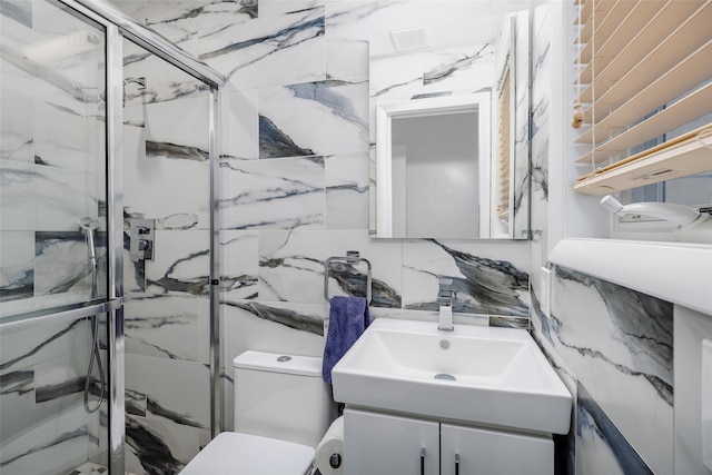
[(500, 96), (497, 99), (498, 123), (497, 123), (497, 217), (501, 220), (510, 218), (510, 180), (511, 180), (511, 86), (510, 86), (510, 68), (504, 72), (502, 78)]

